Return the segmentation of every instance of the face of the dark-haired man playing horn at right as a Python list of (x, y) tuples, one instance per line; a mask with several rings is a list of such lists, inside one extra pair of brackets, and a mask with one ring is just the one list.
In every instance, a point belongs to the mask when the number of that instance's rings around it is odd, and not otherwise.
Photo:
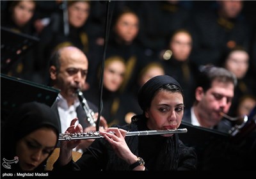
[(196, 100), (198, 101), (198, 120), (203, 127), (211, 128), (217, 125), (222, 116), (220, 111), (228, 113), (232, 98), (234, 97), (234, 84), (232, 82), (213, 81), (212, 87), (204, 91), (196, 88)]

